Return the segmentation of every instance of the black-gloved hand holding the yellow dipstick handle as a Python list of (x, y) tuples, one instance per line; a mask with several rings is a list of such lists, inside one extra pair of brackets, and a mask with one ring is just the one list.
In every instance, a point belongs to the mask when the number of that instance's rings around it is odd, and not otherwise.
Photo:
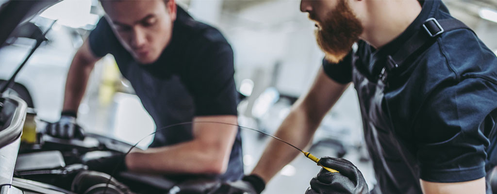
[(306, 194), (368, 194), (369, 189), (362, 173), (350, 161), (343, 158), (323, 157), (320, 165), (335, 169), (331, 173), (322, 168), (311, 180), (311, 187)]

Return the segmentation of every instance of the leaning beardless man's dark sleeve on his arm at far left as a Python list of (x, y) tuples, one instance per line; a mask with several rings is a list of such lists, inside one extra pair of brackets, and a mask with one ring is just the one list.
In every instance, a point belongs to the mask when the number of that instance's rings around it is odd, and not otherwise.
[(112, 32), (112, 29), (110, 29), (107, 20), (104, 17), (101, 17), (96, 24), (95, 29), (93, 29), (88, 36), (91, 52), (96, 57), (107, 55), (111, 52), (110, 48), (112, 41), (115, 41), (114, 33)]

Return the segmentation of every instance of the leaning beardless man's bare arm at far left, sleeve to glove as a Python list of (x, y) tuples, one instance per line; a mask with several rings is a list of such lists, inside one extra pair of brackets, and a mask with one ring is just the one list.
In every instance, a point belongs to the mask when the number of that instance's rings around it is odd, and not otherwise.
[(99, 59), (91, 52), (88, 40), (84, 41), (83, 46), (76, 52), (67, 74), (64, 111), (78, 111), (90, 72)]

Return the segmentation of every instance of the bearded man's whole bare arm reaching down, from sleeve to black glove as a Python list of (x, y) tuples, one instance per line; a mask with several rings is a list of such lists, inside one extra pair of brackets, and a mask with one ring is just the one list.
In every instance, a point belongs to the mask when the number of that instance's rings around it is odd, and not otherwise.
[[(276, 136), (304, 148), (312, 139), (326, 113), (340, 98), (348, 84), (339, 84), (330, 79), (321, 68), (308, 93), (293, 105)], [(266, 183), (300, 152), (275, 139), (266, 147), (261, 159), (252, 171)]]

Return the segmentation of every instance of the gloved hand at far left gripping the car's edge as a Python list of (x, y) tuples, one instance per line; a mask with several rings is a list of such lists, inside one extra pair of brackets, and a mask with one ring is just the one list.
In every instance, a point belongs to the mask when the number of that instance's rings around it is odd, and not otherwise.
[(47, 125), (46, 131), (51, 136), (64, 139), (84, 138), (84, 130), (76, 124), (74, 112), (63, 112), (58, 122)]

